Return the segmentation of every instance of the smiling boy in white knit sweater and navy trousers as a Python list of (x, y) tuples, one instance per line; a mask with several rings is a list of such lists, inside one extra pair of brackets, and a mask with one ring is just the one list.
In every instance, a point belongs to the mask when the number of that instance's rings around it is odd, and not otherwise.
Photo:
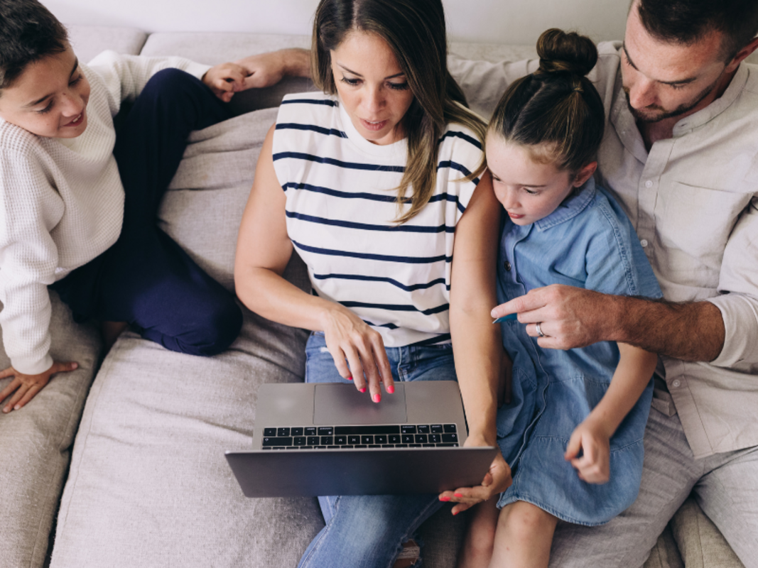
[[(86, 66), (36, 0), (0, 0), (0, 38), (0, 326), (11, 359), (0, 380), (13, 377), (3, 412), (77, 367), (48, 352), (48, 286), (77, 321), (130, 323), (173, 351), (224, 351), (240, 307), (155, 219), (186, 136), (228, 117), (224, 102), (252, 86), (255, 58), (208, 67), (106, 51)], [(135, 98), (116, 133), (114, 115)]]

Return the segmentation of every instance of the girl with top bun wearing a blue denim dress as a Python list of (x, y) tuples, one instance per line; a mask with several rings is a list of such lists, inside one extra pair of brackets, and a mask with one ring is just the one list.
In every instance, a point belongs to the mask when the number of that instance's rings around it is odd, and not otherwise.
[[(537, 52), (539, 70), (509, 87), (487, 130), (487, 163), (508, 214), (498, 301), (552, 283), (659, 297), (631, 223), (592, 179), (605, 114), (584, 75), (597, 50), (548, 30)], [(513, 484), (497, 504), (478, 505), (459, 563), (466, 568), (547, 566), (558, 520), (606, 523), (634, 501), (641, 480), (656, 356), (609, 342), (541, 349), (539, 323), (501, 325), (513, 392), (497, 431)]]

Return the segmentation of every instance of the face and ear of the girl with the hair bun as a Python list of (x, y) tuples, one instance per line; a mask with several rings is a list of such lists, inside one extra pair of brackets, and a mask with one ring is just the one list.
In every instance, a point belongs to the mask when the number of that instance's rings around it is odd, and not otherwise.
[[(530, 225), (553, 213), (597, 168), (597, 162), (592, 162), (572, 176), (554, 164), (534, 161), (531, 148), (500, 136), (487, 136), (486, 148), (495, 195), (516, 225)], [(534, 148), (538, 155), (542, 149)]]

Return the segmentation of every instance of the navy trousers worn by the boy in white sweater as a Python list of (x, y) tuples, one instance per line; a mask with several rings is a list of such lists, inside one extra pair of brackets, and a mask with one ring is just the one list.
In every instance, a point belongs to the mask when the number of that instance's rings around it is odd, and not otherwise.
[[(121, 236), (51, 286), (77, 321), (126, 321), (145, 339), (195, 355), (220, 353), (234, 341), (242, 311), (233, 295), (156, 224), (189, 133), (228, 117), (224, 103), (188, 73), (167, 69), (149, 80), (113, 151), (125, 192)], [(202, 219), (197, 225), (202, 229)]]

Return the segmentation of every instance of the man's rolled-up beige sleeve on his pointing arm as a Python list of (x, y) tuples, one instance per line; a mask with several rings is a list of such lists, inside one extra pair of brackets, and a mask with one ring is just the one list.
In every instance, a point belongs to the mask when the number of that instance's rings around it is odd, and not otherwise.
[(724, 347), (716, 367), (758, 373), (758, 197), (739, 218), (724, 250), (721, 295), (709, 301), (721, 311)]

